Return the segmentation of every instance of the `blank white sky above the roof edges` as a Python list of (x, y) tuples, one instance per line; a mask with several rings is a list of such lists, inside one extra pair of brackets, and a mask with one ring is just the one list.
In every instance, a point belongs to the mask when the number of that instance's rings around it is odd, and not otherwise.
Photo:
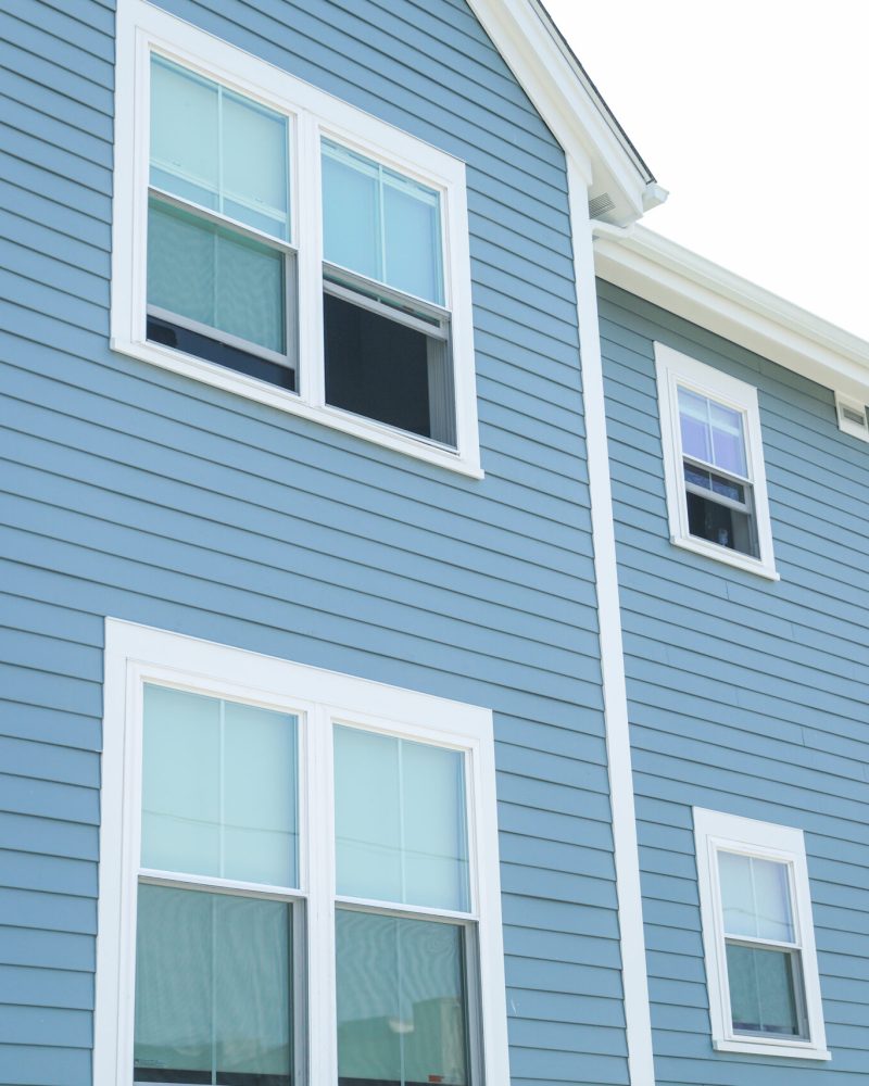
[(657, 180), (643, 225), (869, 340), (869, 0), (544, 0)]

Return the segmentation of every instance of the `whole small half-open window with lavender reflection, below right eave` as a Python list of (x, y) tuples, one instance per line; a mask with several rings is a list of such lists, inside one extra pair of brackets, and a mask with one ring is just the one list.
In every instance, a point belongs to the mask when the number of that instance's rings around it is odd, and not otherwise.
[(670, 534), (776, 578), (757, 390), (655, 344)]

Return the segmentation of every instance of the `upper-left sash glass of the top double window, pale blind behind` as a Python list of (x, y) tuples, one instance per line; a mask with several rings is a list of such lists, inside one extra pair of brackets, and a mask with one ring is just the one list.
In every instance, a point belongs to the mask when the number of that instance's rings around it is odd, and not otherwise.
[(287, 117), (161, 56), (151, 60), (151, 184), (289, 238)]

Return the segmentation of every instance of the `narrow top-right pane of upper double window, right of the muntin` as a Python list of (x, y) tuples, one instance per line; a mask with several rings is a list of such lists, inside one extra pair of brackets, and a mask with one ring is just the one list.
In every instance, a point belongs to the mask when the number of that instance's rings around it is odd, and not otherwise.
[(442, 305), (440, 219), (437, 192), (383, 171), (385, 281)]

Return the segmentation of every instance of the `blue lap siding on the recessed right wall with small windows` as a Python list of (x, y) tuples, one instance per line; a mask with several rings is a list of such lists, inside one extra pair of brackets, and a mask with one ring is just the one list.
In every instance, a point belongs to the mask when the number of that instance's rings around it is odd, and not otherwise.
[[(658, 1086), (869, 1082), (869, 455), (832, 393), (602, 283)], [(653, 341), (759, 389), (771, 583), (672, 547)], [(829, 1064), (715, 1055), (691, 806), (806, 832)]]

